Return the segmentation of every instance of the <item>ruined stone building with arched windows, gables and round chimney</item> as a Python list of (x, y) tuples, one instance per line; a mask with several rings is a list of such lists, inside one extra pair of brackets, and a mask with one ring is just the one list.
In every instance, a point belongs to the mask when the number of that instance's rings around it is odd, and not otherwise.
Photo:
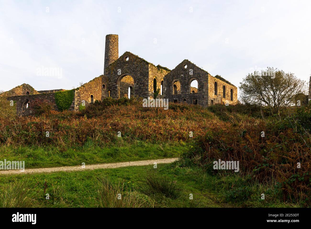
[[(196, 80), (197, 88), (191, 83)], [(104, 74), (72, 90), (72, 103), (67, 109), (79, 110), (82, 101), (86, 106), (96, 100), (112, 97), (153, 98), (160, 88), (158, 98), (168, 98), (169, 103), (198, 104), (203, 107), (212, 104), (236, 104), (237, 87), (216, 75), (197, 67), (189, 60), (183, 60), (173, 70), (155, 66), (141, 57), (125, 52), (119, 56), (118, 35), (107, 35), (104, 53)], [(22, 84), (6, 92), (8, 100), (16, 103), (19, 115), (33, 113), (32, 104), (52, 103), (59, 110), (56, 94), (66, 90), (36, 91), (28, 84)]]

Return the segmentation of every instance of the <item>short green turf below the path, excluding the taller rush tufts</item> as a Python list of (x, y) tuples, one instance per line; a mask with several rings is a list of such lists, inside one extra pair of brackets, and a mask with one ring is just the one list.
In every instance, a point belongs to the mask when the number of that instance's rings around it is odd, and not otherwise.
[[(144, 180), (151, 173), (155, 173), (155, 176), (161, 177), (161, 179), (165, 177), (167, 181), (178, 185), (180, 188), (178, 196), (170, 198), (161, 192), (158, 192), (157, 195), (145, 194)], [(147, 207), (223, 206), (217, 203), (218, 201), (214, 198), (215, 195), (202, 190), (201, 185), (193, 182), (187, 174), (176, 177), (171, 172), (171, 167), (165, 164), (158, 164), (157, 169), (154, 169), (153, 165), (149, 165), (69, 173), (2, 176), (0, 177), (0, 192), (4, 192), (7, 186), (15, 186), (27, 178), (32, 207), (98, 207), (107, 203), (107, 200), (100, 200), (103, 196), (101, 190), (109, 189), (102, 182), (106, 177), (116, 188), (122, 184), (123, 198), (138, 193), (139, 199), (143, 200)], [(46, 199), (47, 193), (50, 196), (48, 200)], [(113, 193), (112, 197), (115, 199), (116, 191), (112, 190), (109, 193)], [(190, 193), (193, 194), (193, 200), (189, 199)]]

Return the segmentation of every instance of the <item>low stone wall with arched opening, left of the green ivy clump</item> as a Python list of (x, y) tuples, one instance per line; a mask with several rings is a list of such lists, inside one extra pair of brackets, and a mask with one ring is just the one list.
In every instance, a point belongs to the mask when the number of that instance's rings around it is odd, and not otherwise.
[[(55, 103), (55, 93), (11, 96), (8, 97), (7, 100), (8, 101), (13, 100), (14, 103), (16, 103), (17, 115), (25, 116), (34, 114), (33, 105), (37, 102), (52, 103), (54, 105), (53, 110), (58, 111), (58, 107)], [(28, 108), (27, 103), (29, 104)]]

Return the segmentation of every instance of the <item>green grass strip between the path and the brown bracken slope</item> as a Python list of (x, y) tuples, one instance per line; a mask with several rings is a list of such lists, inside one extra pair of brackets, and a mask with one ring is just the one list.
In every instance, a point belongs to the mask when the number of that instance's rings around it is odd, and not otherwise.
[(189, 149), (186, 143), (120, 143), (119, 145), (95, 146), (92, 141), (83, 147), (61, 149), (58, 147), (0, 146), (0, 160), (25, 161), (25, 169), (59, 167), (68, 165), (124, 162), (173, 158)]

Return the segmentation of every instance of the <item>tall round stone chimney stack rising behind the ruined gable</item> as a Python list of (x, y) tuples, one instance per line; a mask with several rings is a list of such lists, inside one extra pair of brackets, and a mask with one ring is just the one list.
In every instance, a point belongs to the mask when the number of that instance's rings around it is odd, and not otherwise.
[(106, 67), (119, 58), (119, 36), (115, 34), (106, 35), (105, 43), (105, 62), (104, 74)]

